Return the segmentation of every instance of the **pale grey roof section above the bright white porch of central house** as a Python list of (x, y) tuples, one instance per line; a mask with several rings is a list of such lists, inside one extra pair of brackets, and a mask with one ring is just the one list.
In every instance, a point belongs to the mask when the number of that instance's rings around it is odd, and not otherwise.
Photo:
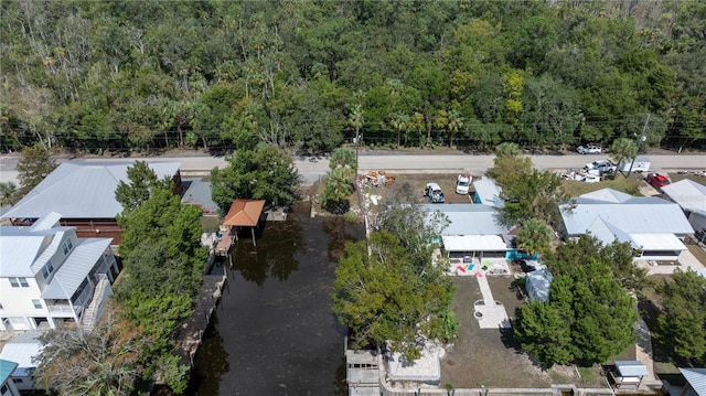
[(489, 205), (478, 204), (426, 204), (427, 212), (439, 211), (449, 217), (451, 224), (441, 235), (504, 235), (509, 229), (498, 224), (498, 212)]

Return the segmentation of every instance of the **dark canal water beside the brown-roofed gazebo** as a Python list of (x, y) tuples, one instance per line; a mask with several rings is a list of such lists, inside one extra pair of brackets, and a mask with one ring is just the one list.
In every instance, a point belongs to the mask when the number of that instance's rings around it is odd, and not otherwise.
[(336, 258), (364, 229), (309, 215), (299, 203), (240, 238), (224, 263), (227, 287), (195, 360), (186, 394), (344, 395), (345, 328), (331, 311)]

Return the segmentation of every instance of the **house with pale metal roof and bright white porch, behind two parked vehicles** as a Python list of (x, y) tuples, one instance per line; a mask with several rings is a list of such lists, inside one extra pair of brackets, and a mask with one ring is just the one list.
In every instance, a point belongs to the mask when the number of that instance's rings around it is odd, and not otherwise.
[(441, 232), (443, 249), (451, 260), (463, 258), (505, 258), (507, 228), (498, 224), (493, 206), (475, 204), (422, 205), (427, 212), (440, 211), (451, 224)]

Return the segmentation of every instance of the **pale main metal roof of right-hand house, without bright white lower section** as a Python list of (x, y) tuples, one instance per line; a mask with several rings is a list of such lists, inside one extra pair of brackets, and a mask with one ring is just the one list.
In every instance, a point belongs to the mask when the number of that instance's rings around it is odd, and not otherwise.
[[(561, 207), (561, 217), (569, 235), (591, 232), (590, 227), (598, 217), (627, 234), (694, 233), (682, 208), (675, 203), (659, 197), (629, 197), (622, 203), (614, 203), (610, 199), (596, 200), (598, 195), (591, 194), (593, 199), (586, 199), (586, 195), (579, 196), (571, 212), (567, 211), (566, 205)], [(610, 191), (606, 194), (614, 196)], [(618, 195), (618, 199), (622, 197)]]

